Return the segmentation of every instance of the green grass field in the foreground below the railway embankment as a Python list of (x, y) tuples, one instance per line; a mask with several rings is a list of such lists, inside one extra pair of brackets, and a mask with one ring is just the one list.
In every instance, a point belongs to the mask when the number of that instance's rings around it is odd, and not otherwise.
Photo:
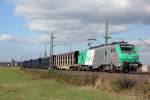
[(0, 68), (0, 100), (129, 100), (128, 97), (68, 86), (54, 80), (33, 80), (20, 69)]

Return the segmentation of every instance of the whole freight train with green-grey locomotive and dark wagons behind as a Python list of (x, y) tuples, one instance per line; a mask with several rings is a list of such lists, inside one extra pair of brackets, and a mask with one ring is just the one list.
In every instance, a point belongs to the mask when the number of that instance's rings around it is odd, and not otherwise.
[[(52, 61), (53, 60), (53, 61)], [(22, 62), (23, 68), (49, 68), (68, 70), (97, 70), (109, 72), (136, 71), (142, 66), (138, 48), (128, 42), (114, 42), (87, 50), (74, 51)]]

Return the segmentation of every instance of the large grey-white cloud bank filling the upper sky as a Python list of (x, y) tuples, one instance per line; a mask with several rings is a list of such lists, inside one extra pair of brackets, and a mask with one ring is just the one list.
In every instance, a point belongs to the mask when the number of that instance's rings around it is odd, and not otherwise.
[(90, 33), (104, 33), (107, 18), (111, 24), (110, 33), (126, 31), (134, 23), (150, 24), (148, 0), (9, 1), (15, 5), (17, 16), (30, 20), (30, 30), (54, 32), (57, 36), (72, 39), (78, 39), (77, 36), (89, 38)]

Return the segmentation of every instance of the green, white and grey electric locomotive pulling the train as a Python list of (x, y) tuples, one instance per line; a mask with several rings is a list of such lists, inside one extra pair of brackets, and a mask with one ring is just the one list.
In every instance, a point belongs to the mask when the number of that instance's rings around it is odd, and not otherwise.
[(138, 48), (127, 42), (114, 42), (79, 52), (78, 64), (102, 71), (136, 71), (142, 66)]

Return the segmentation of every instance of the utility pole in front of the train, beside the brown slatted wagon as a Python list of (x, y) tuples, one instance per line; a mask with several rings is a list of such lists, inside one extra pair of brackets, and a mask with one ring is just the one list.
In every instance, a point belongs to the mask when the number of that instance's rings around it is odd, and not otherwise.
[(54, 48), (54, 35), (53, 33), (51, 34), (51, 39), (50, 39), (50, 65), (49, 65), (49, 69), (52, 67), (54, 67), (53, 65), (53, 48)]

